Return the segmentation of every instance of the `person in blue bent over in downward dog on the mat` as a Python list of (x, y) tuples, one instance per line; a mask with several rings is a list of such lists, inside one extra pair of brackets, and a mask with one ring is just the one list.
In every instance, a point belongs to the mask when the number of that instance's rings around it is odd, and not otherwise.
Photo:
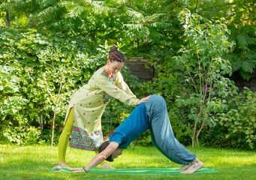
[(174, 137), (164, 98), (152, 95), (146, 103), (137, 106), (116, 128), (110, 136), (110, 141), (101, 144), (98, 154), (86, 167), (70, 170), (88, 172), (104, 160), (113, 161), (122, 154), (123, 149), (148, 129), (155, 147), (168, 159), (183, 165), (182, 168), (177, 169), (185, 170), (181, 173), (193, 173), (203, 167), (203, 163), (197, 159), (196, 155), (188, 151)]

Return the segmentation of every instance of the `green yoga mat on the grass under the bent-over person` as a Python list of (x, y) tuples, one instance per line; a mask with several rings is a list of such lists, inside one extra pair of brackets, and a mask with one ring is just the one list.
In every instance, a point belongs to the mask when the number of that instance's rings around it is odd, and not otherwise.
[[(74, 168), (71, 168), (74, 169)], [(131, 168), (131, 169), (91, 169), (89, 173), (98, 174), (126, 174), (126, 175), (182, 175), (180, 172), (175, 170), (177, 168)], [(49, 172), (71, 172), (68, 168), (62, 168), (59, 171), (50, 169)], [(214, 169), (202, 168), (194, 173), (218, 173)]]

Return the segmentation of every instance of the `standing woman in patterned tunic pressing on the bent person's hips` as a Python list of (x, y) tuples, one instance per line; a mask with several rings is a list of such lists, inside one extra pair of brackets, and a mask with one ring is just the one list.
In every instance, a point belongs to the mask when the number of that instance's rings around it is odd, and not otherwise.
[[(98, 69), (88, 84), (71, 98), (65, 116), (65, 126), (59, 137), (59, 166), (69, 167), (65, 162), (65, 154), (70, 136), (71, 148), (97, 151), (103, 142), (101, 115), (111, 97), (132, 107), (149, 99), (138, 100), (128, 88), (119, 72), (124, 62), (125, 56), (116, 46), (110, 49), (107, 65)], [(112, 168), (107, 163), (102, 167)]]

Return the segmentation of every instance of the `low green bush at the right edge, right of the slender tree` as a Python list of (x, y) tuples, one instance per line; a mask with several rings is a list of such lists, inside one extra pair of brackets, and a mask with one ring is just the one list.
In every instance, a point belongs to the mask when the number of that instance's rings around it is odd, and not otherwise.
[(218, 115), (218, 123), (221, 125), (219, 140), (231, 148), (254, 148), (256, 143), (256, 93), (245, 88), (242, 93), (228, 101), (228, 107), (226, 113)]

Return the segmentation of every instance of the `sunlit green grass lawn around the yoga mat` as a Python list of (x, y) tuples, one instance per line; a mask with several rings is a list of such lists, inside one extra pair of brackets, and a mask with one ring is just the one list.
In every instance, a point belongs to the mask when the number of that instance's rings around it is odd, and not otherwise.
[[(190, 175), (106, 175), (93, 173), (48, 173), (58, 165), (58, 148), (47, 145), (0, 145), (0, 179), (256, 179), (256, 152), (218, 148), (190, 148), (205, 167), (220, 173)], [(70, 166), (85, 166), (95, 153), (68, 148)], [(155, 147), (130, 145), (111, 166), (116, 168), (179, 167)], [(100, 168), (99, 166), (97, 168)]]

